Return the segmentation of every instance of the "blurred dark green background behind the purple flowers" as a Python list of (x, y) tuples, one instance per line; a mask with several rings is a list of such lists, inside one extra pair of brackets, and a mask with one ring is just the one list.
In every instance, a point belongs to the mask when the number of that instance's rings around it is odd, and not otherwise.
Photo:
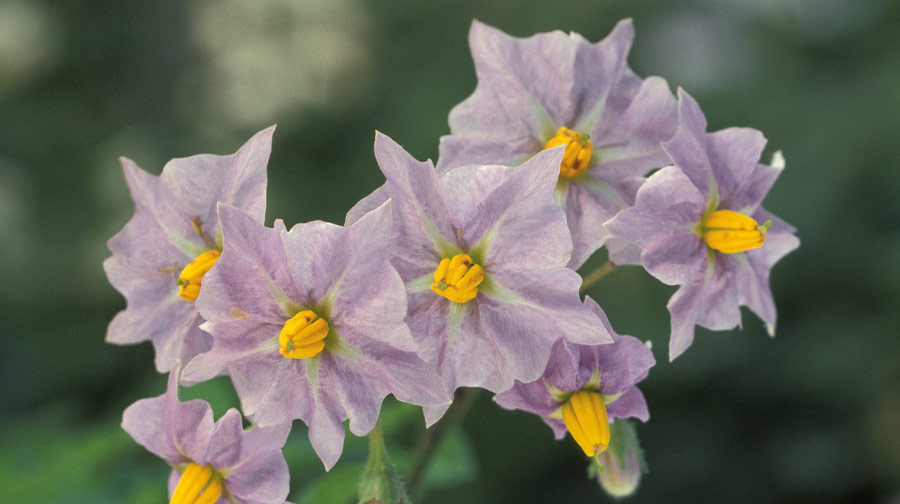
[[(133, 212), (120, 155), (231, 153), (278, 123), (267, 223), (342, 222), (381, 184), (378, 129), (435, 159), (475, 75), (473, 18), (596, 41), (634, 18), (630, 64), (687, 89), (710, 129), (751, 126), (787, 169), (766, 206), (801, 248), (778, 264), (775, 339), (698, 330), (666, 362), (673, 288), (622, 268), (590, 290), (654, 343), (629, 501), (900, 502), (900, 4), (889, 0), (181, 2), (0, 0), (0, 501), (165, 501), (168, 468), (120, 428), (159, 395), (149, 343), (113, 346), (124, 307), (101, 263)], [(602, 262), (595, 258), (590, 265)], [(590, 266), (589, 265), (589, 266)], [(217, 414), (227, 379), (184, 391)], [(388, 401), (408, 465), (419, 413)], [(295, 422), (295, 502), (352, 499), (366, 441), (325, 473)], [(535, 416), (482, 394), (418, 502), (610, 502)]]

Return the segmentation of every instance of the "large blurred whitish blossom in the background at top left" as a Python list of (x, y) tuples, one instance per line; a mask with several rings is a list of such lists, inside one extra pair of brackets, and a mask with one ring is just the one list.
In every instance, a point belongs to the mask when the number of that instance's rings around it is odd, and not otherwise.
[(357, 0), (205, 0), (190, 23), (205, 61), (188, 85), (202, 86), (204, 115), (218, 126), (261, 127), (310, 107), (332, 112), (366, 87), (370, 22)]

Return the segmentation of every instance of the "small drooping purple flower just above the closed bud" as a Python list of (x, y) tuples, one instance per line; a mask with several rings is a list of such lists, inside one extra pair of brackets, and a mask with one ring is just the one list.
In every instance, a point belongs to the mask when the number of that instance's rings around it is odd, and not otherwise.
[(593, 299), (585, 298), (585, 305), (600, 318), (613, 344), (559, 341), (540, 378), (530, 383), (517, 381), (494, 400), (504, 408), (540, 416), (557, 439), (569, 431), (585, 454), (593, 456), (606, 449), (611, 419), (635, 417), (646, 422), (650, 418), (636, 384), (646, 378), (656, 361), (640, 340), (616, 334)]

